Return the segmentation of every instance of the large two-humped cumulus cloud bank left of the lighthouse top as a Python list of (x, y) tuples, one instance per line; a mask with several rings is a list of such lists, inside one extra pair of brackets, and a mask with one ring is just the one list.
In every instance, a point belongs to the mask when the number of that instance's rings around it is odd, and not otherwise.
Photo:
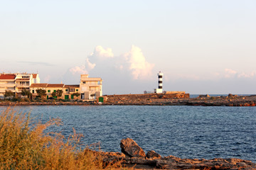
[(142, 50), (132, 45), (129, 52), (124, 55), (114, 56), (111, 48), (103, 48), (98, 45), (94, 52), (85, 58), (85, 64), (69, 69), (73, 75), (90, 74), (93, 70), (95, 74), (105, 74), (114, 72), (115, 76), (122, 74), (131, 75), (132, 79), (149, 79), (152, 76), (154, 64), (146, 62)]

